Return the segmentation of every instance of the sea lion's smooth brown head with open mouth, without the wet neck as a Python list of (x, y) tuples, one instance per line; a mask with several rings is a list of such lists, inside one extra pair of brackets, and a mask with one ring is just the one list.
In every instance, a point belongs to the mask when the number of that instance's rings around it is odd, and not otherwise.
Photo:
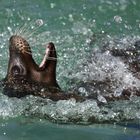
[(56, 81), (57, 55), (53, 43), (48, 44), (47, 52), (39, 67), (32, 58), (31, 48), (25, 39), (12, 36), (9, 42), (10, 58), (6, 76), (8, 81), (17, 76), (24, 76), (27, 80), (59, 88)]

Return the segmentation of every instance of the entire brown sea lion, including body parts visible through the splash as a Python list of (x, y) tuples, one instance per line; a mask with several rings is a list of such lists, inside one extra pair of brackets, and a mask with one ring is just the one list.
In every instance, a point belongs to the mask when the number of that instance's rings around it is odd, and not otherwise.
[[(124, 56), (123, 53), (111, 51), (112, 55), (118, 57)], [(9, 40), (9, 64), (7, 75), (3, 80), (3, 92), (9, 97), (24, 97), (32, 94), (43, 98), (49, 98), (53, 101), (67, 100), (75, 98), (76, 101), (84, 101), (87, 99), (99, 98), (98, 91), (106, 91), (106, 94), (102, 94), (102, 97), (106, 101), (129, 99), (131, 92), (134, 95), (140, 96), (139, 89), (124, 89), (120, 96), (115, 97), (113, 94), (108, 94), (112, 81), (106, 79), (104, 81), (90, 81), (80, 82), (82, 87), (94, 87), (92, 88), (93, 94), (89, 96), (83, 96), (78, 91), (73, 93), (63, 92), (56, 81), (56, 65), (57, 54), (55, 46), (50, 42), (46, 47), (46, 53), (38, 66), (33, 57), (29, 43), (21, 36), (13, 35)], [(88, 88), (90, 89), (90, 88)], [(94, 91), (93, 91), (94, 89)], [(102, 102), (102, 101), (99, 101)]]

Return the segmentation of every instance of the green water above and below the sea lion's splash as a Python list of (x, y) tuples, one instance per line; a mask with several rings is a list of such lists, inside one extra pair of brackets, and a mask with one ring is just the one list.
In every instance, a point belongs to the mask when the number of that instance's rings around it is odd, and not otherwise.
[[(139, 0), (1, 0), (0, 1), (0, 78), (8, 65), (8, 39), (25, 23), (43, 26), (30, 36), (37, 63), (45, 47), (53, 41), (58, 52), (57, 79), (69, 89), (69, 77), (90, 50), (101, 45), (105, 35), (137, 36), (140, 30)], [(34, 30), (26, 26), (26, 32)], [(95, 42), (91, 38), (95, 37)], [(90, 44), (91, 43), (91, 44)], [(89, 45), (90, 44), (90, 45)], [(130, 123), (131, 124), (131, 123)], [(140, 123), (127, 125), (53, 124), (35, 118), (9, 118), (0, 121), (0, 140), (140, 140)]]

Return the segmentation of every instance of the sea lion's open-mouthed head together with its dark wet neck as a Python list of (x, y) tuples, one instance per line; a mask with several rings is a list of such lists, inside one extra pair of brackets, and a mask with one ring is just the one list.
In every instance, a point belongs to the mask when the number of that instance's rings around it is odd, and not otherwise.
[(29, 43), (21, 36), (13, 35), (9, 40), (9, 64), (3, 80), (3, 92), (9, 97), (24, 97), (32, 94), (54, 101), (75, 98), (84, 100), (76, 94), (64, 94), (56, 81), (57, 54), (50, 42), (46, 53), (38, 66)]

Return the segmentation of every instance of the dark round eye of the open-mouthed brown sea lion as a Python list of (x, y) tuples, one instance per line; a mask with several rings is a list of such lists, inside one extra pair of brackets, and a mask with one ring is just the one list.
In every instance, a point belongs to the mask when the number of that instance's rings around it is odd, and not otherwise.
[(11, 73), (13, 76), (22, 75), (23, 69), (22, 67), (15, 65), (11, 68)]

